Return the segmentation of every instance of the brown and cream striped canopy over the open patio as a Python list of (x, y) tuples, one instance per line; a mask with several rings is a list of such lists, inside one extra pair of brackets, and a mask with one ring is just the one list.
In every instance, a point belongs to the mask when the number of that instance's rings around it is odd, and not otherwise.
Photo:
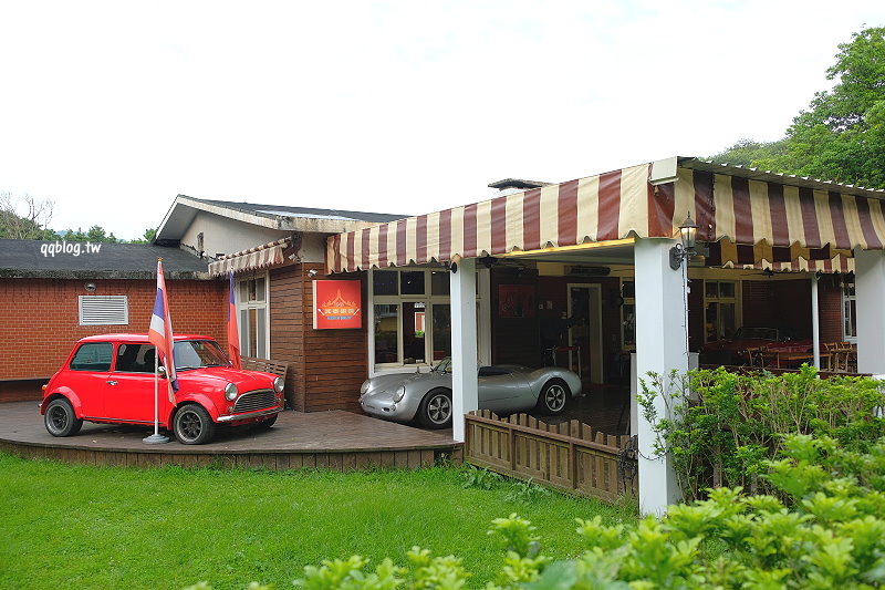
[[(717, 266), (847, 258), (885, 244), (885, 192), (679, 158), (654, 186), (652, 164), (332, 236), (332, 272), (504, 255), (624, 238), (671, 238), (687, 214), (698, 239), (723, 240)], [(728, 245), (732, 245), (731, 246)], [(716, 256), (712, 252), (712, 256)]]

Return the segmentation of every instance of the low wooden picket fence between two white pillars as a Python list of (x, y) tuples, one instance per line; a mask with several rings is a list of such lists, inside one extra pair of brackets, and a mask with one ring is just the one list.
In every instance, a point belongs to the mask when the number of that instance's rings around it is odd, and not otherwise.
[(521, 479), (613, 501), (637, 496), (635, 443), (573, 420), (545, 424), (488, 410), (465, 416), (465, 460)]

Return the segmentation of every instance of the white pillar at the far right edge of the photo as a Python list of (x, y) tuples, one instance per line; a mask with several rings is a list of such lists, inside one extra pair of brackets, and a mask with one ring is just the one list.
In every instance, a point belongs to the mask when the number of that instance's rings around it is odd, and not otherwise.
[(857, 372), (885, 374), (885, 252), (854, 250)]

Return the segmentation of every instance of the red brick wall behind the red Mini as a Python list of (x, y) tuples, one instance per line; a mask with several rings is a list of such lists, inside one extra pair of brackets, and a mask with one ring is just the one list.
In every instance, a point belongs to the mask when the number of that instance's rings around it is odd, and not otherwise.
[[(45, 377), (77, 340), (92, 334), (147, 332), (155, 280), (97, 280), (95, 294), (128, 297), (128, 325), (80, 325), (83, 280), (0, 280), (0, 380)], [(217, 338), (227, 346), (227, 281), (168, 280), (169, 313), (177, 333)], [(0, 390), (3, 387), (0, 381)]]

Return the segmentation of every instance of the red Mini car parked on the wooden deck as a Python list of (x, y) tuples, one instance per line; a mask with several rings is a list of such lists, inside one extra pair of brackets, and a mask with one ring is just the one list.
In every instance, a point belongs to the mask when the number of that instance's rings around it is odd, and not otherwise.
[[(71, 436), (83, 421), (154, 424), (154, 355), (147, 334), (105, 334), (76, 343), (43, 393), (40, 413), (52, 436)], [(169, 402), (160, 368), (159, 426), (186, 445), (208, 443), (218, 424), (269, 428), (283, 408), (283, 380), (231, 366), (218, 343), (175, 337), (178, 391)]]

